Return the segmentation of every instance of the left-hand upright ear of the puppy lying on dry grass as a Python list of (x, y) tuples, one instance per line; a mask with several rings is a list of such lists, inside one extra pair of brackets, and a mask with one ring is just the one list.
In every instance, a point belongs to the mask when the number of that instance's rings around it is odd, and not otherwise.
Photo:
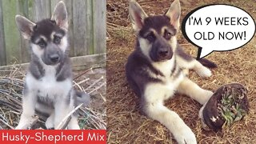
[(134, 30), (138, 32), (144, 25), (144, 19), (148, 16), (144, 10), (142, 10), (142, 7), (139, 6), (138, 2), (135, 2), (134, 0), (130, 0), (129, 15)]

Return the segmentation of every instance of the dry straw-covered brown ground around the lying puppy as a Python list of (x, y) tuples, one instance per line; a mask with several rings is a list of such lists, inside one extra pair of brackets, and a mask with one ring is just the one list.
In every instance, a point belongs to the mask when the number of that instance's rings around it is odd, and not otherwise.
[[(139, 0), (147, 14), (164, 14), (170, 7), (170, 0)], [(231, 4), (246, 10), (256, 19), (256, 2), (206, 0), (182, 0), (182, 18), (198, 6), (206, 4)], [(108, 143), (176, 143), (169, 130), (159, 122), (140, 114), (138, 98), (125, 77), (125, 63), (134, 49), (135, 35), (128, 19), (128, 1), (107, 1), (107, 136)], [(181, 20), (182, 20), (181, 18)], [(197, 47), (183, 38), (178, 42), (188, 54), (196, 55)], [(240, 82), (249, 90), (250, 114), (229, 129), (205, 131), (198, 120), (198, 102), (184, 95), (176, 95), (166, 106), (176, 111), (196, 135), (198, 143), (256, 143), (256, 38), (238, 50), (214, 52), (206, 58), (215, 62), (218, 68), (212, 70), (210, 78), (200, 78), (194, 71), (189, 78), (207, 90), (217, 90), (230, 82)]]

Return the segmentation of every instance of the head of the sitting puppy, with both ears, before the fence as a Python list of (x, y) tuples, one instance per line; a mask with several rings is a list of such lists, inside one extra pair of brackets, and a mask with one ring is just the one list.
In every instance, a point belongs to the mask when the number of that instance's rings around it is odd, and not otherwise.
[(64, 2), (58, 2), (51, 18), (39, 22), (16, 15), (18, 30), (30, 40), (33, 54), (46, 65), (56, 65), (66, 54), (68, 19)]

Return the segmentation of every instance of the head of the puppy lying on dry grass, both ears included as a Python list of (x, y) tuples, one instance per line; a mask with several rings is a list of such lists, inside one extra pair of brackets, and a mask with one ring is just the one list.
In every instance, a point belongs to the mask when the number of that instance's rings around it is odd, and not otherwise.
[(137, 2), (131, 0), (129, 12), (142, 53), (154, 62), (171, 59), (177, 46), (179, 1), (175, 0), (166, 14), (148, 16)]

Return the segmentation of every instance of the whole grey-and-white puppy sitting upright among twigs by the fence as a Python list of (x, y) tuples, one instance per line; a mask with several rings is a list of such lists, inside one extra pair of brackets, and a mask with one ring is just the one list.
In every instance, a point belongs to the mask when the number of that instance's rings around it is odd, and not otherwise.
[[(23, 111), (16, 129), (27, 129), (35, 110), (50, 116), (46, 120), (47, 129), (56, 129), (79, 100), (90, 102), (88, 94), (72, 87), (66, 6), (64, 2), (58, 2), (52, 18), (40, 22), (31, 22), (20, 15), (16, 16), (16, 22), (22, 36), (30, 41), (31, 50), (23, 90)], [(77, 114), (72, 115), (68, 129), (80, 129)]]

